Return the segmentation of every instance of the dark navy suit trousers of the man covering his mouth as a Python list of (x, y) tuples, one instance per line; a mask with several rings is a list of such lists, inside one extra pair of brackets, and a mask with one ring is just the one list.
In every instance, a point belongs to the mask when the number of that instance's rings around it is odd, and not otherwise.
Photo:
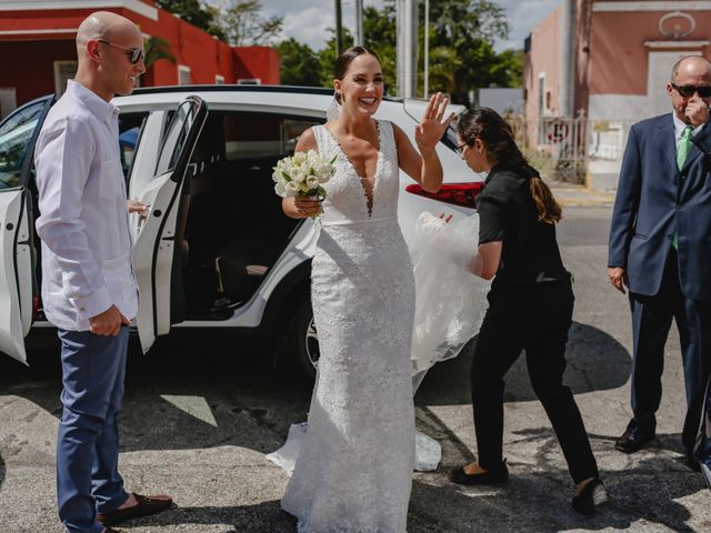
[(703, 393), (711, 370), (711, 300), (692, 300), (681, 292), (677, 253), (667, 260), (659, 293), (645, 296), (630, 292), (632, 308), (632, 411), (630, 429), (653, 433), (662, 398), (664, 344), (674, 319), (681, 341), (687, 390), (687, 415), (682, 443), (691, 455), (699, 430)]

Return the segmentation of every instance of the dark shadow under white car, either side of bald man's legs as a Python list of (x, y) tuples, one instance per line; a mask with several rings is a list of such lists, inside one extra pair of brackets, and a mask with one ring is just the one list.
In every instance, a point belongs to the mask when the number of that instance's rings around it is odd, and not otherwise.
[[(121, 450), (274, 451), (290, 424), (306, 420), (311, 384), (287, 364), (274, 368), (272, 359), (258, 340), (224, 331), (179, 331), (147, 355), (131, 339)], [(0, 394), (29, 400), (59, 419), (59, 345), (32, 352), (30, 362), (26, 369), (0, 361)]]

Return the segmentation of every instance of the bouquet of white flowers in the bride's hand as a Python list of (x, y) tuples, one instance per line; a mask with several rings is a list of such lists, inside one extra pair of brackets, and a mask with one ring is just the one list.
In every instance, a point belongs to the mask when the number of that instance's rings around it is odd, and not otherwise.
[(323, 183), (336, 173), (336, 158), (334, 155), (328, 160), (316, 150), (309, 150), (280, 160), (271, 175), (274, 180), (274, 192), (281, 198), (300, 195), (319, 197), (323, 200)]

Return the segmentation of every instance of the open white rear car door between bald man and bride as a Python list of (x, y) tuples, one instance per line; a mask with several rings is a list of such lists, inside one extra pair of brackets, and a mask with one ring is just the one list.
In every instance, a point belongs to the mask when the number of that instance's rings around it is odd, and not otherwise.
[(150, 213), (138, 230), (133, 245), (133, 272), (140, 291), (136, 325), (143, 353), (156, 336), (170, 332), (181, 191), (207, 115), (208, 107), (202, 99), (188, 97), (180, 102), (163, 135), (156, 174), (141, 192), (140, 201), (150, 205)]

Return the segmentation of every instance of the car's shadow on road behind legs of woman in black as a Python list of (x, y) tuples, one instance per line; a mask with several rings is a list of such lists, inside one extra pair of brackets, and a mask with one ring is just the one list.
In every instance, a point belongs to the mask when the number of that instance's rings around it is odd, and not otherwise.
[[(469, 371), (477, 338), (462, 353), (432, 368), (415, 395), (417, 404), (459, 405), (471, 402)], [(573, 322), (565, 352), (565, 383), (574, 394), (617, 389), (630, 378), (632, 358), (608, 333)], [(504, 401), (535, 400), (522, 354), (505, 375)]]

